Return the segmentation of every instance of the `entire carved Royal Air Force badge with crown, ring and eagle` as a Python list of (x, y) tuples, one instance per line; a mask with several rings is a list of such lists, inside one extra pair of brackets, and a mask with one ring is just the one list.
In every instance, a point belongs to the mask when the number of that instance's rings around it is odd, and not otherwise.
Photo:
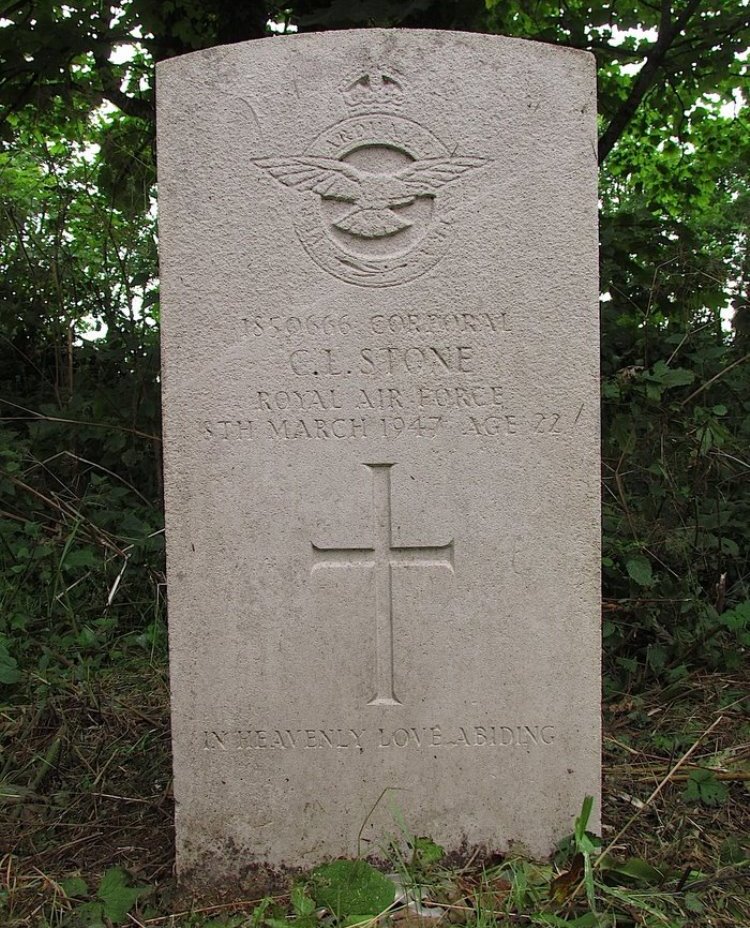
[[(329, 274), (359, 287), (392, 287), (426, 273), (450, 250), (453, 227), (488, 184), (492, 159), (458, 152), (408, 118), (406, 78), (380, 62), (339, 86), (352, 114), (292, 155), (251, 159), (287, 188), (297, 237)], [(479, 153), (477, 153), (479, 154)], [(468, 178), (468, 179), (467, 179)]]

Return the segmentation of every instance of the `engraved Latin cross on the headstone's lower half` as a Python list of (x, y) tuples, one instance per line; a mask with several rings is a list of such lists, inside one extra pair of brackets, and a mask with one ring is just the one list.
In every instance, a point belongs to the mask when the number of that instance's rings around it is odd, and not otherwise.
[(393, 464), (365, 464), (372, 474), (375, 540), (371, 547), (333, 548), (313, 543), (312, 571), (373, 567), (375, 571), (375, 695), (368, 705), (398, 706), (393, 686), (393, 568), (447, 567), (453, 573), (453, 539), (444, 545), (394, 545), (391, 519)]

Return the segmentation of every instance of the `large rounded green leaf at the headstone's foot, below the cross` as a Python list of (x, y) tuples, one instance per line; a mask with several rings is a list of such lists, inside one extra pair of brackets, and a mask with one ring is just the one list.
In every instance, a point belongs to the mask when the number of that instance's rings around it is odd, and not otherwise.
[(310, 874), (310, 891), (319, 906), (337, 918), (384, 912), (396, 898), (396, 886), (364, 860), (334, 860)]

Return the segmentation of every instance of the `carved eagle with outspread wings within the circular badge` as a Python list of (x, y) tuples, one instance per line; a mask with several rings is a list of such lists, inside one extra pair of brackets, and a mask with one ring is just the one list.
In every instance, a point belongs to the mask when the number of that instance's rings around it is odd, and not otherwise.
[(255, 164), (279, 183), (323, 200), (349, 203), (352, 209), (332, 224), (342, 232), (363, 239), (396, 235), (413, 223), (399, 215), (417, 197), (435, 197), (441, 187), (481, 168), (484, 158), (421, 158), (393, 174), (364, 171), (316, 155), (287, 158), (256, 158)]

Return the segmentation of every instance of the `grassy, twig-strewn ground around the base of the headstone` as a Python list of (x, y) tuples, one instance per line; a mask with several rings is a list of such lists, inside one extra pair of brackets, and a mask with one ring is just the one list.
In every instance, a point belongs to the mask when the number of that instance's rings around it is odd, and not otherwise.
[(402, 833), (389, 872), (342, 860), (273, 896), (198, 897), (173, 874), (164, 669), (57, 686), (0, 711), (0, 925), (747, 926), (747, 710), (739, 676), (610, 698), (603, 836), (587, 833), (584, 808), (550, 861), (451, 865), (429, 836)]

